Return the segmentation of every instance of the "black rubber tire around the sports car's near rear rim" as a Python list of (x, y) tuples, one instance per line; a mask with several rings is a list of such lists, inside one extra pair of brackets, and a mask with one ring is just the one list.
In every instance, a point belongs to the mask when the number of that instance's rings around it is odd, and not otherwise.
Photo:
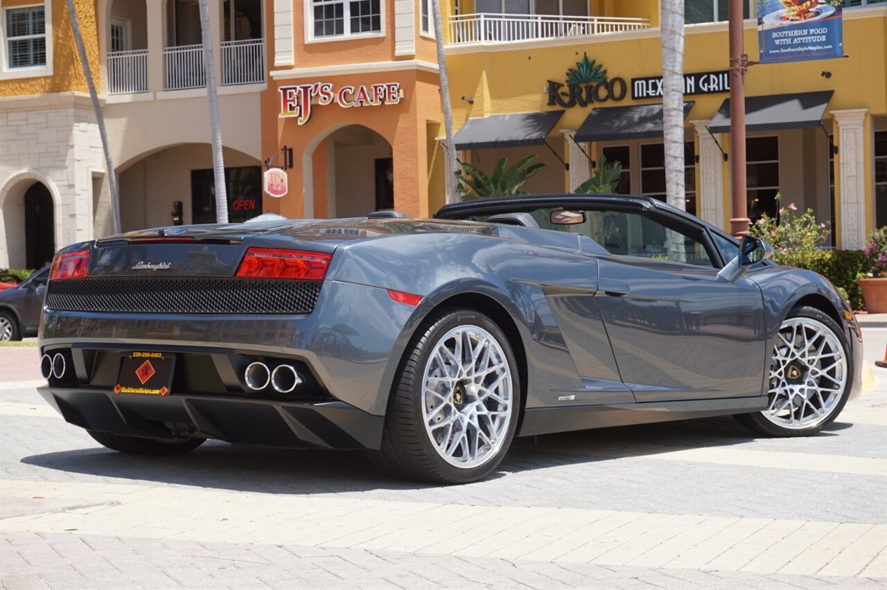
[[(421, 396), (425, 369), (436, 345), (450, 330), (460, 326), (482, 328), (495, 339), (504, 353), (506, 371), (510, 373), (511, 380), (510, 415), (504, 436), (499, 437), (498, 449), (489, 451), (488, 458), (482, 464), (471, 468), (456, 467), (445, 461), (436, 446), (432, 445), (431, 435), (425, 427)], [(453, 392), (450, 391), (449, 395), (452, 396)], [(454, 405), (451, 408), (455, 410)], [(520, 409), (520, 375), (505, 333), (489, 317), (473, 309), (440, 309), (428, 316), (406, 348), (389, 399), (381, 450), (370, 451), (369, 456), (382, 469), (404, 479), (437, 484), (466, 484), (477, 481), (495, 470), (507, 453), (517, 429)], [(451, 434), (454, 433), (451, 431)]]

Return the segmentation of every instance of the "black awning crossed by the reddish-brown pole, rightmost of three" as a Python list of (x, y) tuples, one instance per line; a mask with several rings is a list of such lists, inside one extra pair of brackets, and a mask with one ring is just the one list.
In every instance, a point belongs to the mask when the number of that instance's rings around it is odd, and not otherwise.
[[(835, 90), (771, 94), (765, 97), (745, 98), (745, 130), (770, 131), (819, 127), (828, 101)], [(711, 133), (730, 132), (730, 99), (726, 98), (711, 120)]]

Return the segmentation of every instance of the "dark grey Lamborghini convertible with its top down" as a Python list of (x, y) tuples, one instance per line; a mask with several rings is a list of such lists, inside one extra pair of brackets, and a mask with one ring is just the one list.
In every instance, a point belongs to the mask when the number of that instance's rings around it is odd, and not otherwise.
[(712, 415), (808, 435), (859, 394), (861, 332), (770, 252), (594, 195), (131, 232), (56, 255), (40, 392), (122, 452), (366, 449), (447, 483), (515, 436)]

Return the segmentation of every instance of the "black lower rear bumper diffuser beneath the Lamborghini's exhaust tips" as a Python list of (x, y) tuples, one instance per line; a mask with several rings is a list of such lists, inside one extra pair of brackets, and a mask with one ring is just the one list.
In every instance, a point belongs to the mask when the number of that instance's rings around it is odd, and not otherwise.
[(68, 423), (90, 431), (169, 439), (194, 436), (288, 448), (378, 449), (384, 416), (341, 401), (294, 402), (205, 395), (165, 397), (40, 387)]

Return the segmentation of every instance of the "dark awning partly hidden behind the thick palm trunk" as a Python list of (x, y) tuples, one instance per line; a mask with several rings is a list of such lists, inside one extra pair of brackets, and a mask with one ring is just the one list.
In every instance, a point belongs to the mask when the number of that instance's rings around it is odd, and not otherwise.
[[(684, 118), (695, 101), (684, 103)], [(663, 136), (663, 105), (599, 106), (576, 132), (576, 142), (608, 142)]]

